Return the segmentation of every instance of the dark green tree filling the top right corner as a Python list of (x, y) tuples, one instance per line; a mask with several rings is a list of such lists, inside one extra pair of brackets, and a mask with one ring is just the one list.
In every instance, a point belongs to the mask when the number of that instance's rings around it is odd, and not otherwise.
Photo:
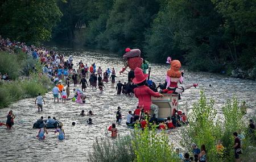
[(234, 67), (256, 67), (256, 1), (212, 0), (224, 20), (222, 53), (228, 55)]

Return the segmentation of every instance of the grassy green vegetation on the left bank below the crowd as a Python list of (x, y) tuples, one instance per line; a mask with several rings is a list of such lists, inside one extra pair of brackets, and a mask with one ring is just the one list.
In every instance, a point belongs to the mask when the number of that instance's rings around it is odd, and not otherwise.
[[(27, 56), (20, 50), (15, 53), (0, 52), (0, 72), (7, 73), (10, 82), (0, 81), (0, 108), (7, 107), (19, 99), (36, 97), (38, 93), (45, 94), (51, 85), (51, 80), (42, 72), (39, 61)], [(32, 66), (38, 73), (32, 73)], [(20, 76), (28, 76), (20, 80)]]

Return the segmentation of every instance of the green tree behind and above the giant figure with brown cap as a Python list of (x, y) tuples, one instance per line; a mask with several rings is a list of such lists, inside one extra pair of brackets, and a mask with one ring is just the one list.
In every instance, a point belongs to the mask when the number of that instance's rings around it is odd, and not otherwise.
[(150, 27), (159, 10), (156, 1), (114, 1), (113, 9), (101, 38), (104, 48), (121, 51), (126, 47), (142, 48), (144, 32)]

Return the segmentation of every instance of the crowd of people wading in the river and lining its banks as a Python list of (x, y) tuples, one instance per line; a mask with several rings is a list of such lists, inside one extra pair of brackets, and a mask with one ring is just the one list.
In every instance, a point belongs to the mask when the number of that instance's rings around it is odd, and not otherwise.
[[(108, 83), (109, 80), (111, 80), (112, 88), (115, 87), (115, 90), (117, 91), (118, 95), (127, 95), (127, 96), (133, 96), (134, 89), (137, 88), (137, 85), (134, 84), (132, 81), (124, 82), (118, 81), (118, 83), (115, 86), (115, 78), (118, 78), (115, 73), (115, 69), (107, 68), (105, 71), (102, 70), (101, 67), (98, 67), (96, 69), (96, 64), (93, 63), (90, 67), (88, 64), (82, 63), (82, 60), (77, 64), (77, 70), (74, 68), (73, 64), (73, 56), (69, 56), (67, 60), (65, 60), (64, 56), (60, 53), (57, 53), (52, 50), (48, 50), (44, 47), (38, 48), (33, 45), (27, 46), (25, 43), (20, 42), (11, 42), (9, 39), (3, 39), (0, 37), (0, 51), (7, 51), (10, 53), (14, 52), (15, 48), (20, 48), (23, 52), (26, 52), (27, 55), (30, 55), (32, 58), (40, 60), (40, 63), (43, 65), (43, 73), (46, 74), (49, 78), (51, 78), (52, 82), (55, 84), (54, 88), (52, 89), (53, 92), (53, 102), (59, 102), (61, 99), (61, 102), (66, 102), (69, 99), (72, 99), (72, 101), (75, 101), (77, 103), (85, 103), (86, 99), (86, 88), (88, 88), (88, 81), (89, 78), (89, 86), (92, 87), (92, 89), (98, 89), (100, 92), (103, 91), (104, 82)], [(143, 65), (146, 65), (147, 63), (143, 63)], [(148, 66), (148, 64), (147, 64)], [(148, 68), (148, 67), (147, 67)], [(143, 69), (143, 72), (145, 69)], [(36, 72), (35, 67), (32, 67), (32, 70)], [(9, 80), (9, 76), (7, 73), (1, 74), (0, 73), (0, 79), (1, 80)], [(71, 81), (73, 82), (75, 89), (73, 89), (73, 92), (75, 93), (74, 97), (69, 98), (70, 93), (70, 85)], [(80, 88), (77, 88), (77, 85), (81, 86)], [(154, 90), (154, 92), (161, 92), (163, 89), (166, 89), (166, 83), (161, 84), (159, 83), (158, 86), (151, 80), (147, 80), (146, 85)], [(158, 90), (160, 88), (160, 90)], [(38, 112), (43, 111), (43, 103), (44, 98), (39, 93), (38, 97), (35, 99), (35, 104), (38, 107)], [(245, 107), (245, 102), (243, 103), (243, 107)], [(243, 109), (244, 113), (246, 113), (246, 108)], [(90, 110), (87, 114), (85, 114), (85, 111), (82, 110), (80, 113), (81, 116), (93, 116), (94, 114)], [(1, 123), (0, 126), (7, 126), (7, 128), (11, 129), (14, 125), (14, 119), (15, 115), (13, 114), (13, 111), (9, 111), (7, 114), (7, 121), (6, 123)], [(38, 123), (43, 123), (44, 126), (39, 129), (38, 131), (38, 139), (44, 140), (46, 138), (46, 135), (49, 132), (54, 132), (55, 134), (58, 133), (58, 139), (64, 140), (65, 139), (65, 132), (63, 128), (63, 124), (60, 123), (55, 131), (49, 131), (47, 130), (47, 124), (54, 124), (56, 123), (56, 118), (48, 117), (47, 121), (45, 122), (43, 120), (43, 117), (41, 117), (38, 121)], [(118, 106), (117, 113), (116, 113), (116, 123), (112, 123), (111, 126), (109, 126), (108, 131), (111, 131), (112, 138), (116, 138), (118, 136), (118, 129), (115, 124), (121, 124), (122, 122), (122, 113), (121, 113), (121, 107)], [(72, 122), (72, 125), (75, 126), (75, 122)], [(88, 125), (93, 124), (92, 118), (88, 118), (87, 121)], [(174, 114), (172, 114), (171, 117), (168, 117), (165, 120), (159, 120), (156, 118), (156, 114), (152, 114), (152, 117), (146, 113), (144, 113), (143, 106), (137, 106), (137, 108), (132, 112), (131, 110), (127, 114), (126, 118), (126, 125), (128, 127), (137, 127), (144, 130), (146, 127), (148, 128), (157, 128), (159, 130), (168, 130), (168, 129), (174, 129), (177, 127), (181, 127), (183, 124), (188, 124), (187, 116), (182, 111), (175, 110)], [(249, 132), (250, 134), (254, 134), (255, 131), (255, 124), (253, 120), (250, 120), (249, 124)], [(240, 154), (241, 154), (241, 146), (242, 146), (242, 140), (244, 136), (238, 132), (233, 133), (234, 136), (234, 155), (237, 161), (240, 160)], [(205, 145), (202, 144), (201, 148), (198, 148), (196, 144), (192, 144), (192, 152), (193, 155), (189, 155), (189, 153), (184, 153), (184, 156), (180, 152), (179, 149), (176, 149), (177, 156), (185, 161), (207, 161), (207, 150), (205, 148)], [(218, 140), (216, 144), (216, 150), (220, 154), (220, 156), (223, 155), (225, 148), (222, 146), (221, 140)]]

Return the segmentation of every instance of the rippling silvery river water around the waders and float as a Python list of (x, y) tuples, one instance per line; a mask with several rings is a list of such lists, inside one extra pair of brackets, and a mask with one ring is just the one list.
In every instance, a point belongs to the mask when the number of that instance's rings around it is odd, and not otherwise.
[[(119, 70), (123, 67), (122, 59), (114, 53), (105, 53), (101, 51), (89, 51), (85, 49), (72, 48), (55, 48), (55, 51), (64, 53), (65, 56), (74, 55), (75, 63), (82, 60), (83, 63), (96, 63), (97, 68), (100, 66), (103, 70), (114, 67), (118, 80), (127, 81), (126, 74), (119, 75)], [(75, 66), (76, 67), (76, 66)], [(152, 67), (151, 79), (158, 84), (164, 82), (164, 76), (169, 65), (150, 64)], [(179, 102), (179, 109), (187, 112), (191, 109), (192, 104), (200, 97), (200, 89), (205, 89), (207, 98), (215, 100), (215, 109), (221, 114), (221, 107), (224, 106), (226, 99), (236, 95), (238, 99), (246, 101), (249, 106), (248, 114), (254, 114), (256, 105), (256, 82), (250, 80), (241, 80), (238, 78), (220, 76), (211, 73), (188, 72), (185, 70), (184, 84), (199, 83), (199, 88), (191, 88), (183, 93)], [(209, 84), (212, 86), (210, 87)], [(134, 110), (137, 105), (137, 98), (116, 95), (115, 88), (111, 88), (111, 83), (105, 84), (102, 94), (98, 90), (86, 89), (89, 98), (84, 105), (67, 101), (66, 103), (53, 103), (52, 92), (44, 95), (46, 105), (43, 105), (44, 111), (37, 112), (35, 98), (22, 99), (13, 103), (10, 107), (0, 109), (0, 120), (6, 121), (6, 115), (9, 110), (13, 110), (16, 115), (14, 128), (7, 130), (6, 127), (0, 127), (0, 161), (39, 161), (39, 160), (62, 160), (62, 161), (86, 161), (88, 153), (92, 152), (92, 144), (96, 137), (104, 137), (110, 134), (106, 131), (111, 123), (115, 121), (117, 106), (121, 106), (123, 115), (122, 125), (118, 125), (120, 135), (129, 132), (125, 126), (126, 115), (129, 110)], [(78, 88), (78, 86), (77, 86)], [(73, 85), (71, 86), (71, 90)], [(71, 96), (73, 92), (71, 91)], [(93, 125), (86, 125), (87, 116), (81, 117), (81, 110), (88, 112), (92, 110), (95, 114)], [(57, 135), (49, 132), (46, 140), (39, 141), (36, 139), (37, 129), (32, 128), (32, 124), (41, 116), (56, 117), (63, 122), (66, 139), (59, 141)], [(71, 123), (76, 122), (76, 126)], [(170, 139), (177, 145), (176, 140), (179, 138), (177, 130), (170, 132)]]

